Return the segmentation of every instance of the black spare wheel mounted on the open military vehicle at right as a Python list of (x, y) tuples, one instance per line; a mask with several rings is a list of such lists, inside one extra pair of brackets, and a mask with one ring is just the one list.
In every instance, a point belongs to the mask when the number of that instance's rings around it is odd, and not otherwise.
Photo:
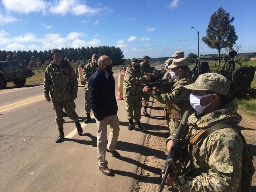
[(253, 78), (254, 73), (250, 67), (238, 67), (232, 72), (232, 81), (235, 84), (248, 84), (252, 82)]

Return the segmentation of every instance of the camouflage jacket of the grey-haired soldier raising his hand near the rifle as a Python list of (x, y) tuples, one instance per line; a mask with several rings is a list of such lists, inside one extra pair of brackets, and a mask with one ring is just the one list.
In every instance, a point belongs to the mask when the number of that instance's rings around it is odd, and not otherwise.
[(145, 77), (140, 70), (134, 71), (128, 67), (124, 76), (123, 96), (125, 99), (141, 99), (143, 87), (134, 87), (137, 84), (146, 83)]

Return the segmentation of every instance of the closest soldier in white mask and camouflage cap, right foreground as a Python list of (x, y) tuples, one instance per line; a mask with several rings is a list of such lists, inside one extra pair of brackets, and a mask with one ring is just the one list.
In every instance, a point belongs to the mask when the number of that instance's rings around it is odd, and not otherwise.
[[(212, 126), (223, 125), (194, 143), (190, 165), (182, 171), (182, 182), (169, 174), (167, 183), (179, 191), (241, 191), (243, 145), (236, 125), (242, 117), (237, 113), (236, 97), (226, 97), (230, 82), (216, 73), (201, 74), (195, 83), (185, 86), (193, 90), (190, 103), (197, 112), (188, 119), (189, 136)], [(191, 141), (190, 139), (190, 141)], [(248, 178), (249, 179), (249, 178)]]

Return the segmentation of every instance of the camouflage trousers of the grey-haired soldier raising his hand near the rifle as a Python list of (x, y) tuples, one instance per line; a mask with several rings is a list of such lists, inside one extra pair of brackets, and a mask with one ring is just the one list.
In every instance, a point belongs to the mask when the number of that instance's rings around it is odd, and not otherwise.
[(124, 99), (124, 101), (126, 104), (127, 119), (129, 121), (134, 119), (135, 122), (140, 122), (141, 108), (142, 108), (141, 99), (140, 100)]

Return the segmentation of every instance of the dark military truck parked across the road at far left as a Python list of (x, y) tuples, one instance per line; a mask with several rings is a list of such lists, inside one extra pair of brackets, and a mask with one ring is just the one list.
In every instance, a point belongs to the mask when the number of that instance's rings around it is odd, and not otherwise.
[(17, 87), (26, 83), (26, 78), (35, 75), (23, 61), (0, 61), (0, 89), (4, 89), (7, 82), (13, 82)]

